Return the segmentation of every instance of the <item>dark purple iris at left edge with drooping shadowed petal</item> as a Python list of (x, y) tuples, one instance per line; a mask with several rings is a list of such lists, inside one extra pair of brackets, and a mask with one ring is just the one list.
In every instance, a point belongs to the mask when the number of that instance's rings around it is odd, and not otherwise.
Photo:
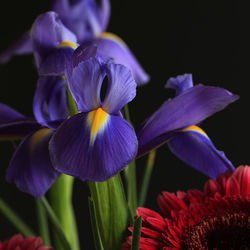
[(48, 143), (53, 134), (33, 118), (0, 104), (0, 138), (23, 139), (18, 145), (7, 170), (7, 180), (23, 192), (42, 197), (60, 173), (50, 161)]

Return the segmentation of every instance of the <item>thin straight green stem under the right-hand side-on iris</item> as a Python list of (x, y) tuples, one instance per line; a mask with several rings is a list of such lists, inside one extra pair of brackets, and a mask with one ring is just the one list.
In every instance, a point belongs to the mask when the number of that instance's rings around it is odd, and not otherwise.
[(156, 150), (150, 151), (149, 155), (148, 155), (148, 161), (147, 161), (144, 176), (142, 179), (142, 185), (141, 185), (141, 190), (140, 190), (141, 192), (140, 192), (140, 196), (139, 196), (139, 206), (140, 207), (143, 207), (144, 203), (146, 201), (150, 177), (152, 174), (154, 161), (155, 161), (155, 155), (156, 155)]

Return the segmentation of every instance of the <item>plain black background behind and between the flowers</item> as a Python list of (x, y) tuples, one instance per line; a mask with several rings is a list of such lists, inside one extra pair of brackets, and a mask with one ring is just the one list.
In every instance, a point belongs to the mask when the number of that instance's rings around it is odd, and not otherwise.
[[(4, 1), (0, 15), (0, 50), (4, 50), (24, 31), (36, 16), (49, 9), (51, 1)], [(247, 56), (249, 22), (241, 1), (135, 1), (113, 0), (108, 31), (121, 36), (150, 74), (148, 85), (138, 88), (130, 104), (135, 127), (152, 114), (171, 90), (164, 89), (169, 77), (192, 73), (194, 83), (227, 88), (240, 100), (203, 122), (218, 149), (235, 166), (250, 161), (249, 131), (249, 59)], [(246, 12), (244, 14), (244, 12)], [(0, 65), (0, 102), (32, 116), (32, 99), (37, 73), (32, 56), (15, 57)], [(13, 153), (9, 142), (0, 142), (0, 196), (31, 226), (36, 227), (34, 199), (5, 181), (6, 168)], [(195, 153), (195, 152), (194, 152)], [(138, 161), (138, 183), (145, 158)], [(155, 168), (146, 206), (157, 208), (157, 195), (168, 190), (202, 188), (207, 177), (173, 156), (167, 145), (157, 151)], [(92, 249), (87, 208), (88, 190), (76, 181), (74, 205), (82, 249)], [(0, 239), (16, 230), (0, 214)]]

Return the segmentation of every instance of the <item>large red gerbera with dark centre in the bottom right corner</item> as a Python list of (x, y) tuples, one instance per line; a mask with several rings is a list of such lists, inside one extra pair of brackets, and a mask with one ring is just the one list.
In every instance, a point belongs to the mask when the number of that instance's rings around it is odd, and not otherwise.
[[(163, 192), (158, 204), (166, 218), (137, 209), (142, 215), (140, 249), (250, 249), (249, 166), (207, 181), (203, 192)], [(131, 242), (132, 236), (123, 249), (130, 249)]]

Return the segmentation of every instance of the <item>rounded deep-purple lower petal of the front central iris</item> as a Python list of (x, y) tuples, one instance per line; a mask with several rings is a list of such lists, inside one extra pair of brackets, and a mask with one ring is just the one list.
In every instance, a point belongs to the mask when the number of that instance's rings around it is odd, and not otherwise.
[(104, 129), (90, 140), (88, 113), (65, 121), (50, 142), (55, 168), (83, 181), (105, 181), (133, 160), (137, 139), (132, 126), (120, 116), (110, 115)]

